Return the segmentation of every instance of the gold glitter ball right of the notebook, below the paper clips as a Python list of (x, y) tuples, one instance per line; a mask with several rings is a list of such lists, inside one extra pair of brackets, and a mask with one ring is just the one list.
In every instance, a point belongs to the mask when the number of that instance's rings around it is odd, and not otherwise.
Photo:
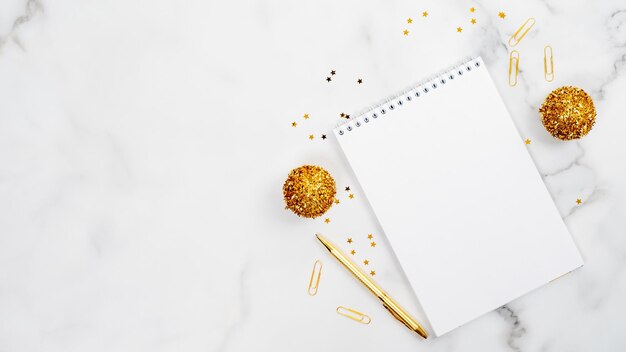
[(565, 86), (553, 90), (539, 109), (543, 126), (558, 139), (583, 137), (596, 122), (593, 100), (584, 90)]

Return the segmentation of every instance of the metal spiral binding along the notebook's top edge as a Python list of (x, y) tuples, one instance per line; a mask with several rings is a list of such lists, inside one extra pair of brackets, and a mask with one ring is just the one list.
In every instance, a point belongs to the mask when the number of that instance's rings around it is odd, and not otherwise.
[(348, 121), (342, 122), (335, 127), (335, 132), (343, 136), (348, 132), (352, 132), (357, 128), (370, 124), (378, 118), (387, 115), (396, 109), (402, 108), (405, 103), (409, 103), (423, 94), (433, 94), (431, 91), (439, 90), (446, 84), (451, 84), (457, 77), (462, 77), (465, 73), (469, 73), (473, 68), (482, 65), (480, 57), (471, 57), (461, 63), (451, 66), (450, 68), (440, 71), (436, 75), (419, 81), (410, 88), (405, 89), (399, 94), (393, 95), (391, 98), (366, 109), (364, 112), (353, 115), (355, 117)]

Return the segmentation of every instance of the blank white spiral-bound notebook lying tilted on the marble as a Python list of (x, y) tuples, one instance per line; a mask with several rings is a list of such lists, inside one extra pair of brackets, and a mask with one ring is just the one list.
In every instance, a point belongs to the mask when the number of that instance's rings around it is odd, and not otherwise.
[(480, 57), (334, 134), (435, 335), (583, 265)]

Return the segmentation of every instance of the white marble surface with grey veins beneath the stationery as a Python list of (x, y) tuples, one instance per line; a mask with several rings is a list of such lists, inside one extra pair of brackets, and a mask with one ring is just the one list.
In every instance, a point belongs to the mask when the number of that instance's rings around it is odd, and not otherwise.
[[(505, 42), (530, 16), (510, 88)], [(340, 112), (474, 54), (520, 141), (532, 140), (586, 265), (424, 341), (315, 242), (317, 231), (344, 248), (353, 237), (357, 257), (423, 319), (335, 141), (320, 136)], [(0, 351), (624, 350), (625, 62), (623, 0), (3, 0)], [(566, 143), (537, 108), (569, 84), (593, 96), (598, 120)], [(329, 224), (283, 209), (282, 182), (304, 163), (354, 190), (339, 191)], [(344, 319), (338, 305), (373, 321)]]

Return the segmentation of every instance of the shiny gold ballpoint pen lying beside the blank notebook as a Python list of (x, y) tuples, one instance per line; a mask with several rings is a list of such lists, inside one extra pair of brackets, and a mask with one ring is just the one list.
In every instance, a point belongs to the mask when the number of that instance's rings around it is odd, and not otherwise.
[(387, 296), (387, 294), (380, 288), (378, 285), (372, 281), (367, 275), (365, 275), (358, 266), (356, 266), (339, 248), (335, 247), (333, 244), (328, 242), (324, 236), (320, 234), (316, 234), (317, 239), (322, 242), (324, 247), (328, 249), (330, 254), (332, 254), (343, 266), (345, 266), (352, 275), (354, 275), (359, 281), (365, 285), (373, 294), (375, 294), (378, 299), (383, 303), (383, 307), (385, 307), (394, 318), (398, 319), (402, 324), (404, 324), (407, 328), (412, 331), (418, 333), (423, 338), (428, 338), (428, 334), (424, 329), (417, 323), (411, 316), (402, 309), (391, 297)]

